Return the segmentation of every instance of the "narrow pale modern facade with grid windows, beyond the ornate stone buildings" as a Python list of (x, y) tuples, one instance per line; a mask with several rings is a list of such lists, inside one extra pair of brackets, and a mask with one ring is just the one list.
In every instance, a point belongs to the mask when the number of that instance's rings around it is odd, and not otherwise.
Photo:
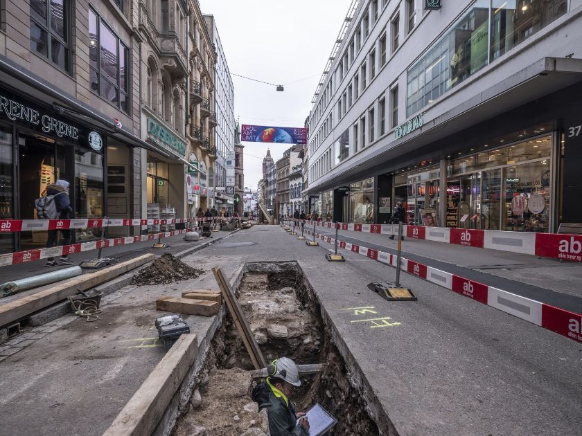
[(217, 125), (214, 129), (216, 161), (214, 163), (214, 186), (215, 203), (218, 210), (229, 210), (232, 213), (233, 195), (227, 194), (226, 190), (226, 156), (229, 152), (234, 152), (234, 86), (224, 54), (224, 48), (220, 41), (218, 28), (213, 15), (204, 15), (206, 27), (213, 40), (213, 48), (216, 55), (216, 67), (214, 75), (214, 100), (215, 116)]

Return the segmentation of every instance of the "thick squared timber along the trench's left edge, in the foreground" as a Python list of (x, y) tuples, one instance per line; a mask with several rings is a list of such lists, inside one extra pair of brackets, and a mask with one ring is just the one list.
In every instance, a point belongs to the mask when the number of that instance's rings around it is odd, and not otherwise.
[(198, 353), (195, 333), (182, 334), (127, 401), (103, 436), (151, 435)]

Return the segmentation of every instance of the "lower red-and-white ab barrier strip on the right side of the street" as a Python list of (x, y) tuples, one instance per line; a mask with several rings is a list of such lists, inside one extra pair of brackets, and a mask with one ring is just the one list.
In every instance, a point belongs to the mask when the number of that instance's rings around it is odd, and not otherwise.
[[(357, 224), (356, 226), (360, 226)], [(327, 226), (327, 223), (325, 225)], [(426, 230), (424, 227), (418, 228), (418, 226), (407, 226), (407, 235), (416, 234), (420, 235), (423, 233), (425, 235)], [(414, 232), (414, 228), (418, 228), (418, 233)], [(431, 228), (434, 229), (434, 228)], [(455, 230), (455, 229), (449, 229)], [(360, 230), (355, 230), (360, 231)], [(363, 231), (363, 230), (361, 230)], [(473, 230), (473, 232), (484, 232), (486, 230)], [(307, 230), (309, 235), (312, 235), (311, 230)], [(500, 233), (518, 233), (518, 232), (500, 232)], [(452, 232), (450, 233), (452, 235)], [(536, 235), (530, 233), (529, 235)], [(548, 235), (544, 235), (548, 236)], [(561, 237), (571, 235), (559, 235)], [(335, 244), (335, 238), (329, 237), (327, 235), (319, 235), (315, 233), (317, 239), (327, 242), (328, 244)], [(530, 241), (524, 237), (521, 239), (524, 242)], [(576, 239), (574, 239), (576, 241)], [(509, 242), (512, 244), (513, 242)], [(396, 255), (391, 253), (385, 253), (384, 251), (378, 251), (373, 248), (367, 248), (365, 246), (351, 244), (346, 241), (341, 241), (339, 238), (337, 240), (338, 248), (343, 248), (349, 250), (353, 253), (358, 253), (369, 257), (370, 259), (377, 260), (383, 264), (388, 264), (391, 266), (396, 266)], [(559, 309), (551, 305), (547, 305), (543, 302), (538, 302), (518, 296), (515, 293), (508, 291), (503, 291), (502, 289), (497, 289), (495, 287), (488, 286), (483, 283), (475, 282), (475, 280), (470, 280), (468, 278), (461, 277), (446, 271), (441, 271), (439, 269), (433, 268), (432, 266), (427, 266), (413, 260), (406, 259), (405, 257), (400, 257), (400, 269), (411, 275), (416, 275), (419, 278), (438, 284), (441, 287), (450, 289), (456, 293), (459, 293), (468, 298), (472, 298), (475, 301), (481, 302), (484, 305), (495, 307), (500, 311), (504, 311), (506, 314), (511, 314), (517, 316), (522, 320), (526, 320), (529, 323), (533, 323), (555, 331), (558, 334), (566, 336), (567, 338), (576, 340), (582, 343), (582, 315), (574, 314), (573, 312), (567, 311), (565, 309)]]

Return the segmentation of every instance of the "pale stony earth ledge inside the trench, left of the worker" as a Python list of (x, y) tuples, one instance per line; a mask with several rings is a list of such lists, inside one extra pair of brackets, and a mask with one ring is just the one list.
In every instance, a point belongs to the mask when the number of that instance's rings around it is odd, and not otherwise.
[(251, 383), (249, 372), (240, 368), (211, 370), (200, 388), (202, 403), (191, 408), (175, 435), (265, 435), (267, 424), (251, 399)]

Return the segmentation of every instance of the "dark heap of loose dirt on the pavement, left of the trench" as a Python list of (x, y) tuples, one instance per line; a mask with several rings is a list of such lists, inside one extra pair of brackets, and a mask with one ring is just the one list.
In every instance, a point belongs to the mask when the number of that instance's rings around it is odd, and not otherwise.
[(204, 273), (178, 260), (172, 253), (164, 253), (154, 263), (139, 271), (132, 278), (132, 284), (166, 284), (197, 278)]

